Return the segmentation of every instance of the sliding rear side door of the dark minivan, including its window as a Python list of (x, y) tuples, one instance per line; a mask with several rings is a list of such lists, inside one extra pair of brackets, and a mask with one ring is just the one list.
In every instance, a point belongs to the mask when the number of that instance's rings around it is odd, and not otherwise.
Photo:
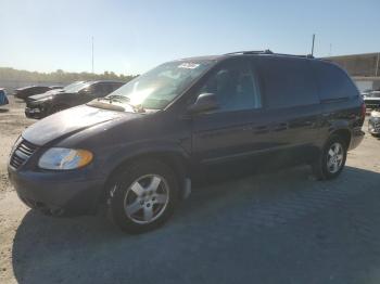
[(273, 150), (309, 150), (316, 145), (320, 138), (321, 107), (309, 60), (262, 56), (259, 73)]

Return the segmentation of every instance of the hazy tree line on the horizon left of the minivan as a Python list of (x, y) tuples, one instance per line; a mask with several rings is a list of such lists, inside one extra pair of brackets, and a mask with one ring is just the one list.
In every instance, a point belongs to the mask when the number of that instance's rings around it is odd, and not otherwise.
[(62, 82), (68, 83), (72, 81), (80, 80), (121, 80), (129, 81), (136, 76), (134, 75), (117, 75), (113, 72), (104, 72), (103, 74), (92, 73), (67, 73), (62, 69), (58, 69), (52, 73), (39, 73), (18, 70), (10, 67), (0, 67), (0, 79), (9, 81), (38, 81), (38, 82)]

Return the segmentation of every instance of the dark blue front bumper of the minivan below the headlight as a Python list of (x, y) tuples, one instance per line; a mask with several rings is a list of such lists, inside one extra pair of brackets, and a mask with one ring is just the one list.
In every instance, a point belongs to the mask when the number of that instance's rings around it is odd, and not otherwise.
[(8, 168), (18, 197), (47, 215), (72, 217), (94, 214), (104, 180), (78, 179), (71, 172), (36, 172)]

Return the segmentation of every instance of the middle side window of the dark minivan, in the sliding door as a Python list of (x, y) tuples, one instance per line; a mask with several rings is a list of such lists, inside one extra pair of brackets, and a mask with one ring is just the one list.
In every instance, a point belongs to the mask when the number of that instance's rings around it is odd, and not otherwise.
[(269, 108), (319, 103), (317, 85), (308, 60), (266, 57), (259, 62)]

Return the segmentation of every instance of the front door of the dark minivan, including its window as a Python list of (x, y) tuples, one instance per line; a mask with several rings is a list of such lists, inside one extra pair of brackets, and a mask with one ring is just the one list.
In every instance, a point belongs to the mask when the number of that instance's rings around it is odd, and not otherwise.
[(262, 111), (257, 76), (248, 59), (233, 59), (214, 69), (198, 90), (215, 93), (220, 107), (192, 117), (192, 152), (201, 164), (250, 155), (255, 150), (253, 113)]

